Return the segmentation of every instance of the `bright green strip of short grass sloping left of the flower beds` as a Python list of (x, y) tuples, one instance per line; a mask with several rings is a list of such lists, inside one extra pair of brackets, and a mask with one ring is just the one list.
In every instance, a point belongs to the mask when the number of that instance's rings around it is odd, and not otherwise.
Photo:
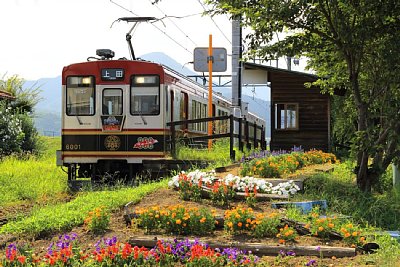
[(38, 237), (69, 231), (74, 226), (83, 224), (88, 212), (96, 207), (103, 206), (113, 211), (129, 201), (138, 202), (148, 193), (166, 186), (167, 180), (164, 180), (136, 188), (84, 192), (68, 203), (41, 207), (32, 211), (28, 217), (9, 222), (0, 228), (0, 234), (26, 234)]

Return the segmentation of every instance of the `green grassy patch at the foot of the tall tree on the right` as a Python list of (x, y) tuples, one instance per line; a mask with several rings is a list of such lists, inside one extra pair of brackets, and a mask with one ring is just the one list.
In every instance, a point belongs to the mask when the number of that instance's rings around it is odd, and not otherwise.
[(301, 199), (326, 199), (332, 212), (349, 215), (362, 226), (373, 225), (383, 229), (400, 229), (400, 194), (362, 192), (355, 186), (352, 164), (336, 164), (331, 174), (318, 174), (304, 181)]

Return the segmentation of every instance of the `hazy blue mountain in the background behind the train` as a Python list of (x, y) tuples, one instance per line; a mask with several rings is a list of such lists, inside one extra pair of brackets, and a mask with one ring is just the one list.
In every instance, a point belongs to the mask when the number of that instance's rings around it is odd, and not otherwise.
[[(182, 73), (183, 75), (198, 75), (190, 69), (182, 66), (168, 55), (155, 52), (140, 56), (141, 59), (158, 62), (166, 65), (173, 70)], [(42, 100), (35, 107), (35, 125), (38, 131), (43, 135), (60, 135), (61, 132), (61, 76), (55, 78), (42, 78), (36, 81), (26, 81), (25, 88), (40, 87)], [(232, 99), (232, 90), (229, 87), (217, 87), (214, 89), (220, 92), (225, 98)], [(249, 103), (249, 110), (257, 114), (266, 121), (266, 125), (270, 125), (270, 102), (249, 96), (254, 94), (254, 90), (249, 91), (243, 89), (242, 101)], [(249, 95), (247, 95), (249, 94)], [(269, 92), (262, 91), (261, 94), (265, 96)], [(260, 95), (261, 95), (260, 94)], [(269, 134), (269, 127), (267, 127), (267, 137)]]

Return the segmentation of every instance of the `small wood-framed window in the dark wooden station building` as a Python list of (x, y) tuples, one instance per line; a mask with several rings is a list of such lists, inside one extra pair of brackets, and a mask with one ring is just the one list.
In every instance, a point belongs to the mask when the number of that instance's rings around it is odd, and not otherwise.
[(297, 130), (299, 128), (299, 104), (275, 104), (275, 129)]

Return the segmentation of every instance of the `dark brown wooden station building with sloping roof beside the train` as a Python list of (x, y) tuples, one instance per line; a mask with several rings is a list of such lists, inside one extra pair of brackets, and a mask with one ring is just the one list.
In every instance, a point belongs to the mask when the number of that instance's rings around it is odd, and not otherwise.
[(271, 88), (271, 150), (330, 150), (330, 96), (305, 87), (316, 75), (255, 63), (244, 63), (243, 83)]

